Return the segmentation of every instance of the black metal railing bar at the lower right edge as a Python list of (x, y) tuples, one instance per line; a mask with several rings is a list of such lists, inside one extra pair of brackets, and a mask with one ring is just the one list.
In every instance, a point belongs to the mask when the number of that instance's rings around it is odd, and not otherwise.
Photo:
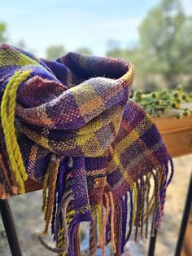
[(180, 228), (180, 232), (179, 232), (179, 236), (178, 236), (175, 256), (181, 255), (181, 249), (182, 249), (183, 240), (185, 237), (185, 230), (186, 230), (188, 219), (190, 216), (191, 202), (192, 202), (192, 174), (190, 175), (190, 184), (189, 184), (189, 188), (188, 188), (188, 192), (187, 192), (187, 196), (186, 196), (185, 210), (184, 210), (183, 217), (182, 217), (181, 228)]

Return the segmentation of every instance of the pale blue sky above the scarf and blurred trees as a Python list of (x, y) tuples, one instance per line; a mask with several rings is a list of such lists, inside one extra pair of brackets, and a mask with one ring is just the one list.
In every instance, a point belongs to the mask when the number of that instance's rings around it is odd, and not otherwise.
[[(26, 49), (44, 57), (46, 48), (66, 51), (87, 46), (104, 55), (109, 41), (137, 43), (137, 27), (158, 0), (0, 0), (0, 21), (8, 25), (11, 44), (24, 40)], [(192, 14), (192, 1), (182, 0)]]

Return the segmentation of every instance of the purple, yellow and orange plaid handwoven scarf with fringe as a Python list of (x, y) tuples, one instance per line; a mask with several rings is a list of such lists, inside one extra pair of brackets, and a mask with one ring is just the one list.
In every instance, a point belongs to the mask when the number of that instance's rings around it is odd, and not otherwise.
[(172, 159), (129, 99), (133, 77), (124, 60), (39, 60), (0, 46), (1, 198), (24, 193), (28, 177), (43, 183), (44, 234), (50, 227), (56, 245), (41, 241), (59, 255), (80, 255), (82, 221), (90, 255), (109, 242), (120, 255), (131, 233), (147, 236), (149, 219), (151, 233), (160, 226)]

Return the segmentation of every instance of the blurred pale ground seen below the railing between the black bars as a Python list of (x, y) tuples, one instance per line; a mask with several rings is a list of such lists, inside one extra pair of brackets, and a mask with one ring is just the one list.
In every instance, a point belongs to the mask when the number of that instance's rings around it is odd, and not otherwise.
[[(181, 216), (185, 204), (187, 186), (190, 180), (192, 155), (174, 159), (175, 175), (167, 192), (164, 223), (159, 230), (155, 256), (174, 255), (177, 236), (181, 224)], [(51, 256), (38, 241), (37, 234), (43, 229), (43, 214), (41, 214), (41, 191), (31, 192), (22, 196), (11, 198), (11, 206), (15, 217), (15, 224), (20, 236), (20, 243), (24, 256)], [(87, 228), (82, 227), (85, 232)], [(140, 241), (135, 245), (129, 241), (125, 248), (124, 256), (147, 255), (149, 240)], [(83, 247), (87, 245), (84, 241)], [(107, 253), (109, 254), (109, 253)], [(83, 255), (83, 254), (81, 254)], [(109, 254), (110, 255), (110, 254)], [(0, 256), (11, 256), (7, 244), (7, 236), (0, 219)]]

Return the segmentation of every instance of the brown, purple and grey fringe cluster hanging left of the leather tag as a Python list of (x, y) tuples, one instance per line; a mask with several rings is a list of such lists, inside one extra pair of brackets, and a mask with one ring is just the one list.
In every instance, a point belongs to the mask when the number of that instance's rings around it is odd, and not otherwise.
[[(68, 189), (63, 192), (63, 188), (59, 186), (59, 183), (61, 183), (60, 179), (64, 177), (63, 166), (63, 157), (52, 155), (45, 175), (42, 193), (41, 210), (45, 213), (44, 220), (46, 223), (42, 234), (47, 234), (51, 220), (51, 234), (54, 236), (56, 247), (49, 246), (44, 241), (43, 236), (39, 236), (42, 245), (45, 245), (50, 251), (59, 254), (59, 256), (64, 256), (68, 253), (68, 226), (73, 214), (73, 211), (68, 211), (73, 201), (72, 191)], [(58, 185), (57, 188), (56, 185)], [(68, 187), (66, 184), (66, 188)], [(62, 193), (63, 196), (61, 196)]]

